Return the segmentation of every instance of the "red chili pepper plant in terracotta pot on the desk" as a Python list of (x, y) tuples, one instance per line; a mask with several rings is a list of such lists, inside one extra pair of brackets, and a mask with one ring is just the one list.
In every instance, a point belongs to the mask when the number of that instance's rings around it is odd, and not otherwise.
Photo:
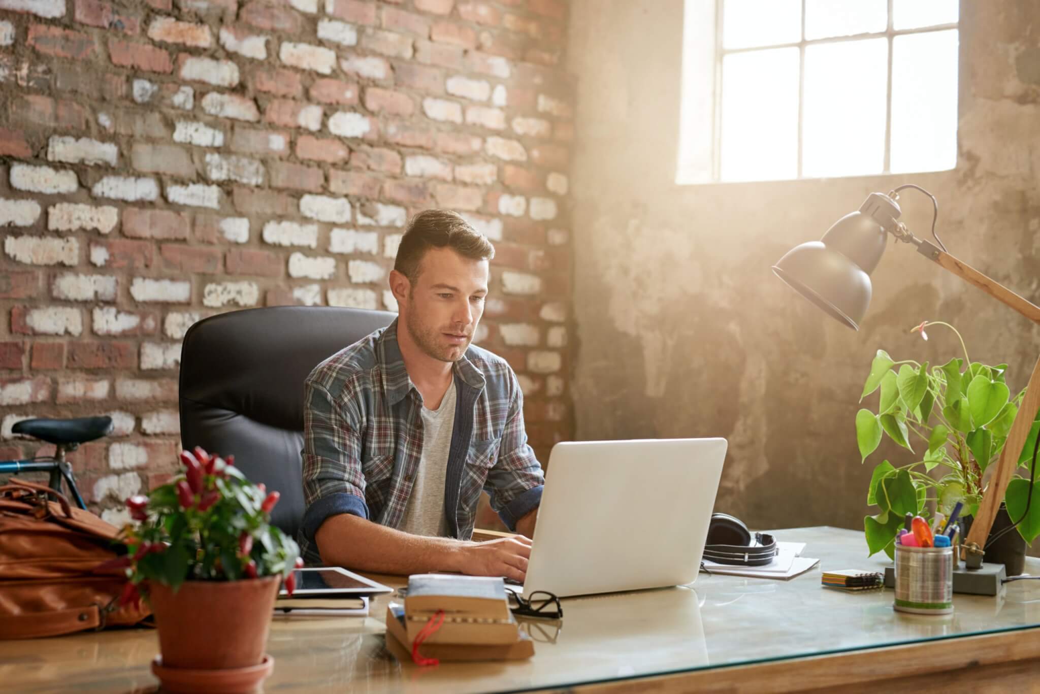
[(180, 459), (180, 475), (127, 499), (139, 522), (123, 532), (122, 601), (152, 605), (161, 651), (152, 669), (165, 691), (249, 691), (271, 670), (264, 644), (300, 548), (269, 522), (279, 493), (246, 480), (232, 456), (196, 447)]

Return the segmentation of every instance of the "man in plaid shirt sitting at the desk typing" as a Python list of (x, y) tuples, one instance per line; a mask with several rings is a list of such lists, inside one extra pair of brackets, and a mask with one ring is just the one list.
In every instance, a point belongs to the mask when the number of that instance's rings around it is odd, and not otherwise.
[[(397, 319), (307, 378), (308, 563), (523, 582), (545, 480), (516, 375), (470, 344), (494, 254), (459, 214), (420, 212), (390, 273)], [(521, 536), (470, 541), (482, 488)]]

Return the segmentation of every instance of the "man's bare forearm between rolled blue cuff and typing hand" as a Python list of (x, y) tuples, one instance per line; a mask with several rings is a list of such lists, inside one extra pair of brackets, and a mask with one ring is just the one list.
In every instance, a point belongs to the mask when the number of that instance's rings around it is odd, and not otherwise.
[(451, 538), (409, 535), (348, 513), (327, 519), (314, 539), (326, 564), (399, 575), (459, 571), (466, 544)]

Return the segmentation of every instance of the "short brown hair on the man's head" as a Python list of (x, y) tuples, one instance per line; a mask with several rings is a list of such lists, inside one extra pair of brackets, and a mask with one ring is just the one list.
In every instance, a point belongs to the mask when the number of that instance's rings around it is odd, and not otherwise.
[(408, 225), (397, 247), (393, 268), (413, 284), (419, 278), (419, 262), (432, 248), (449, 247), (459, 255), (473, 260), (491, 260), (495, 247), (488, 237), (473, 229), (458, 212), (427, 209), (419, 212)]

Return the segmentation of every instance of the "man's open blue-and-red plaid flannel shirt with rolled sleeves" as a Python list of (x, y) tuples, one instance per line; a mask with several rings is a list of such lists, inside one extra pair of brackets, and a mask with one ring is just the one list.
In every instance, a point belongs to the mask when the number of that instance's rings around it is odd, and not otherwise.
[[(452, 537), (473, 534), (480, 490), (510, 529), (542, 499), (545, 478), (527, 445), (523, 393), (504, 359), (470, 345), (454, 363), (457, 404), (444, 485)], [(314, 534), (350, 513), (398, 528), (422, 453), (422, 396), (397, 345), (397, 322), (318, 364), (305, 383), (304, 559)]]

